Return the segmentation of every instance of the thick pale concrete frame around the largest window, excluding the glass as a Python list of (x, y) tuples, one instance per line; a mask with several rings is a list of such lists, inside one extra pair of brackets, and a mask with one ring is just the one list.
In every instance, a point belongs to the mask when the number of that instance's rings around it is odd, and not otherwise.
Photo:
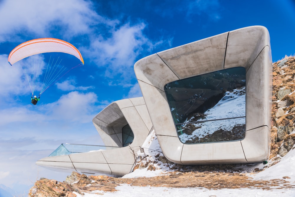
[[(217, 70), (246, 69), (246, 134), (235, 142), (183, 144), (164, 92), (167, 83)], [(134, 66), (163, 154), (179, 164), (260, 162), (270, 152), (272, 60), (268, 30), (245, 27), (145, 57)]]

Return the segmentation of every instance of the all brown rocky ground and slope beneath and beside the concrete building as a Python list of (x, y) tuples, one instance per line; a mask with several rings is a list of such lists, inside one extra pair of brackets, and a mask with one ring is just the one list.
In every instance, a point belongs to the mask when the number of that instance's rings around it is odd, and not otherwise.
[[(113, 178), (109, 176), (86, 176), (73, 172), (63, 182), (41, 178), (30, 189), (29, 196), (55, 197), (76, 196), (90, 191), (116, 191), (115, 187), (122, 183), (137, 186), (154, 187), (204, 187), (208, 189), (220, 188), (253, 188), (270, 189), (279, 187), (295, 188), (288, 182), (289, 177), (274, 180), (254, 180), (246, 173), (257, 173), (275, 165), (292, 149), (295, 143), (295, 57), (285, 57), (273, 63), (273, 97), (272, 97), (272, 128), (271, 128), (271, 155), (268, 164), (263, 168), (253, 165), (195, 165), (183, 166), (168, 161), (160, 152), (145, 150), (137, 160), (136, 169), (165, 171), (161, 176), (145, 178)], [(155, 135), (150, 139), (157, 140)], [(96, 192), (97, 194), (102, 194)]]

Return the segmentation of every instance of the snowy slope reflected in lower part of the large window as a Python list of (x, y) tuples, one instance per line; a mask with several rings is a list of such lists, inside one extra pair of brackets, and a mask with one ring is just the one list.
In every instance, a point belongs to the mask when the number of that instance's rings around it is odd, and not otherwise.
[[(179, 135), (181, 142), (191, 144), (244, 139), (245, 98), (245, 87), (226, 92), (226, 95), (213, 108), (203, 114), (201, 121), (177, 125), (177, 128), (180, 127), (178, 133), (181, 133)], [(186, 122), (193, 122), (192, 120), (194, 116)]]

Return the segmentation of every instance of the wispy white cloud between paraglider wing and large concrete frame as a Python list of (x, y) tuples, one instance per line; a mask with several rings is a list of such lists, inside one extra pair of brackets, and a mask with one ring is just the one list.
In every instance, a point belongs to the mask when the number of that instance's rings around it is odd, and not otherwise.
[[(110, 37), (101, 35), (92, 37), (88, 48), (82, 48), (83, 53), (88, 54), (96, 65), (104, 67), (108, 65), (106, 77), (114, 78), (120, 74), (120, 80), (128, 80), (134, 75), (133, 65), (137, 56), (145, 51), (151, 51), (155, 45), (142, 32), (144, 23), (130, 25), (124, 24), (118, 28), (109, 30)], [(135, 75), (134, 75), (135, 77)], [(134, 78), (132, 77), (132, 78)]]

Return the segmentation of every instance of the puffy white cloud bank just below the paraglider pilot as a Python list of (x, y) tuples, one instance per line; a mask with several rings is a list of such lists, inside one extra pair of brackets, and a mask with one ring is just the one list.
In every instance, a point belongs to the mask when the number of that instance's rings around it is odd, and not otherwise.
[[(40, 124), (44, 127), (50, 125), (51, 121), (57, 121), (62, 124), (81, 124), (91, 122), (92, 118), (97, 113), (99, 106), (95, 93), (79, 93), (78, 91), (70, 92), (60, 97), (56, 102), (49, 104), (37, 104), (38, 107), (28, 103), (26, 106), (7, 107), (0, 109), (0, 126), (5, 126), (11, 123), (26, 123)], [(42, 128), (43, 129), (43, 128)]]

